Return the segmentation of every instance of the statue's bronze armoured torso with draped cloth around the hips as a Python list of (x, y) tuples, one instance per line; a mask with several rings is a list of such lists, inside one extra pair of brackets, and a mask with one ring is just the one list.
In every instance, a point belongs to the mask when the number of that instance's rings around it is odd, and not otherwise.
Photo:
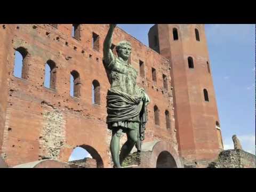
[(138, 130), (136, 147), (141, 150), (145, 138), (147, 107), (142, 100), (145, 90), (136, 85), (137, 71), (115, 58), (106, 66), (111, 88), (107, 93), (108, 129), (121, 127), (124, 132)]

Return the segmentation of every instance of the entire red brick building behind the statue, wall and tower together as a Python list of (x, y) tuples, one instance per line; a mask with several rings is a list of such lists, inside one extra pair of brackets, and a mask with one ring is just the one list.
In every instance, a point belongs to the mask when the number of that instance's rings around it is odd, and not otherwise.
[[(47, 158), (67, 162), (77, 146), (97, 167), (112, 166), (110, 84), (102, 63), (108, 26), (0, 26), (0, 154), (9, 167)], [(204, 166), (217, 158), (223, 145), (204, 25), (155, 25), (150, 48), (116, 28), (114, 52), (124, 39), (132, 44), (137, 83), (151, 100), (150, 150), (143, 151), (150, 161), (143, 166), (182, 167), (182, 158)]]

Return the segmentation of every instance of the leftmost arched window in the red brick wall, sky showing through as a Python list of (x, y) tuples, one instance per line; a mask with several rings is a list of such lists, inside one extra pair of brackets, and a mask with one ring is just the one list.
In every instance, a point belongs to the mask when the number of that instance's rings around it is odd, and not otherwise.
[(14, 71), (13, 75), (15, 77), (28, 79), (28, 62), (27, 57), (28, 51), (24, 47), (19, 47), (15, 49), (14, 53)]

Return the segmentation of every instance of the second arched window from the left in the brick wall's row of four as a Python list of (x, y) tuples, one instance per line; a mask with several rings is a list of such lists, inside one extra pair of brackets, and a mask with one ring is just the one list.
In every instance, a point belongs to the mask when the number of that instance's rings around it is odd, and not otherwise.
[(44, 78), (44, 86), (50, 89), (56, 89), (56, 64), (52, 60), (48, 60), (45, 63), (45, 78)]

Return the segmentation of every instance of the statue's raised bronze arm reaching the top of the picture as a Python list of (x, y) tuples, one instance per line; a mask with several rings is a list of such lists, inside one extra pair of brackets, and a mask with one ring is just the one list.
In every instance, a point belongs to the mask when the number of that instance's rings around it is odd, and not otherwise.
[(106, 67), (108, 67), (110, 65), (110, 63), (114, 60), (114, 54), (111, 51), (110, 47), (112, 44), (112, 35), (113, 35), (115, 27), (116, 27), (116, 24), (109, 25), (108, 34), (107, 34), (104, 44), (103, 44), (103, 60), (104, 60)]

